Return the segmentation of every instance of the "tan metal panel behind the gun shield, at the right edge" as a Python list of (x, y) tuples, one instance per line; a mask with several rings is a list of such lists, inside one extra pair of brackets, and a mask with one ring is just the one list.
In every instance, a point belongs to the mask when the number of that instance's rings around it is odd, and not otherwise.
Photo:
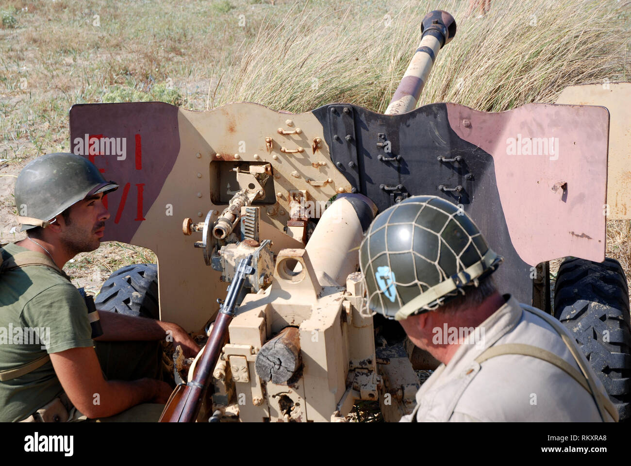
[(602, 105), (609, 110), (607, 218), (631, 219), (631, 83), (570, 86), (557, 104)]

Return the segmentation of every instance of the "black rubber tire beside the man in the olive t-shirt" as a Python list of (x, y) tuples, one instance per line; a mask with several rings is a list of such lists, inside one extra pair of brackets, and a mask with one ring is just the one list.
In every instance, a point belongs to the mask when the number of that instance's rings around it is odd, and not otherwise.
[(95, 305), (99, 311), (159, 319), (158, 265), (134, 264), (119, 268), (105, 280)]

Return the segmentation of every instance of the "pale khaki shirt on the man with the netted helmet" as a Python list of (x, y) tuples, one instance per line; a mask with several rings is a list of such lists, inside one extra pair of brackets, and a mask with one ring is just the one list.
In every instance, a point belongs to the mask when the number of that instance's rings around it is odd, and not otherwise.
[[(416, 420), (601, 422), (591, 393), (550, 362), (514, 354), (481, 364), (475, 361), (493, 345), (527, 344), (562, 357), (580, 371), (550, 324), (523, 311), (510, 295), (504, 299), (506, 304), (480, 324), (481, 338), (461, 344), (449, 364), (440, 364), (423, 383), (416, 393)], [(608, 398), (601, 381), (594, 380)], [(401, 422), (410, 422), (412, 415), (403, 416)], [(611, 421), (609, 414), (604, 416)]]

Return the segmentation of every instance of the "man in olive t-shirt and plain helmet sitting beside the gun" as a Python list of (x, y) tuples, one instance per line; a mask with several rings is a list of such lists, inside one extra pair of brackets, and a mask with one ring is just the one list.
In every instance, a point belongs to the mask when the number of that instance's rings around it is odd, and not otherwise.
[[(15, 201), (27, 238), (0, 249), (0, 421), (101, 418), (165, 403), (172, 386), (163, 380), (160, 340), (170, 335), (187, 356), (198, 352), (180, 326), (153, 319), (102, 312), (96, 332), (98, 311), (88, 315), (91, 301), (62, 271), (98, 248), (110, 217), (103, 196), (117, 188), (72, 153), (21, 170)], [(13, 335), (3, 339), (7, 328)], [(136, 421), (157, 420), (162, 404), (134, 409)]]

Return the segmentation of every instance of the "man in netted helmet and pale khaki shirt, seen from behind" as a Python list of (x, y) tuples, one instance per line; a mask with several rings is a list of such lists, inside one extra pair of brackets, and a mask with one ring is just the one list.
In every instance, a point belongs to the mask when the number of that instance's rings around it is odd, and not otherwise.
[(365, 306), (442, 362), (401, 421), (617, 421), (569, 332), (500, 294), (502, 263), (460, 208), (413, 196), (377, 215), (360, 246)]

